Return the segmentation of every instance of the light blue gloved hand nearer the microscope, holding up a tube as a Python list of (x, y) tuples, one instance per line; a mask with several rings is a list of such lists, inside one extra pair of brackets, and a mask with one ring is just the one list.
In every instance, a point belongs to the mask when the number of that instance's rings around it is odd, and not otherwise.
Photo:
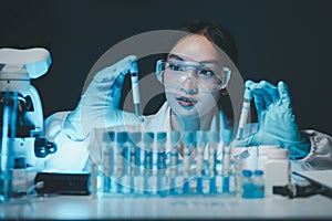
[(63, 123), (63, 130), (72, 140), (85, 139), (94, 128), (141, 123), (135, 114), (120, 108), (125, 75), (137, 71), (136, 62), (137, 57), (129, 55), (94, 75), (79, 105)]

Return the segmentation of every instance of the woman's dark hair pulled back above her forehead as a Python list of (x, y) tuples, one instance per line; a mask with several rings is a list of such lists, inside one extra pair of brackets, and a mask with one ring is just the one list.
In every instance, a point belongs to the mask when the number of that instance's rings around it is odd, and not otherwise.
[(179, 29), (193, 34), (200, 34), (219, 46), (234, 62), (238, 64), (238, 49), (231, 33), (219, 24), (205, 20), (194, 20)]

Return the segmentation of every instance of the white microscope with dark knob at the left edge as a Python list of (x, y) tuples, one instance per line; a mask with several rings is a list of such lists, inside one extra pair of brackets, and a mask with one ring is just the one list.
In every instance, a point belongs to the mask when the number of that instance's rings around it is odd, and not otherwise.
[[(44, 138), (43, 108), (31, 78), (44, 75), (51, 64), (48, 50), (0, 49), (0, 166), (43, 167), (43, 158), (56, 151)], [(7, 155), (7, 156), (6, 156)], [(2, 170), (1, 169), (1, 170)]]

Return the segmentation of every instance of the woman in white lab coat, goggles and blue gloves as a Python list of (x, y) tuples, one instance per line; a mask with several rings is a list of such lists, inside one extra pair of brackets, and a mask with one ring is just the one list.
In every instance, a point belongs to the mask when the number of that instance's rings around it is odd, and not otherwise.
[[(46, 168), (84, 170), (94, 128), (139, 125), (142, 131), (222, 130), (229, 128), (219, 105), (227, 94), (237, 63), (230, 33), (214, 23), (195, 21), (181, 29), (188, 34), (177, 41), (165, 60), (157, 61), (156, 74), (165, 86), (166, 102), (143, 123), (120, 108), (122, 85), (136, 56), (129, 55), (103, 69), (93, 77), (72, 112), (60, 112), (45, 120), (46, 137), (58, 151), (46, 159)], [(304, 169), (332, 168), (332, 138), (315, 130), (299, 130), (288, 87), (261, 81), (246, 82), (258, 113), (257, 131), (235, 146), (276, 144)], [(179, 151), (181, 152), (181, 150)]]

